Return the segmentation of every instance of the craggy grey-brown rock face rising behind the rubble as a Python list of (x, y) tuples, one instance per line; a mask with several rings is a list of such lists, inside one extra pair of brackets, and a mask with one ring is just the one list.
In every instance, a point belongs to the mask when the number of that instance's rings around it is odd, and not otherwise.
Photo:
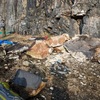
[(7, 32), (100, 37), (100, 0), (0, 0)]

